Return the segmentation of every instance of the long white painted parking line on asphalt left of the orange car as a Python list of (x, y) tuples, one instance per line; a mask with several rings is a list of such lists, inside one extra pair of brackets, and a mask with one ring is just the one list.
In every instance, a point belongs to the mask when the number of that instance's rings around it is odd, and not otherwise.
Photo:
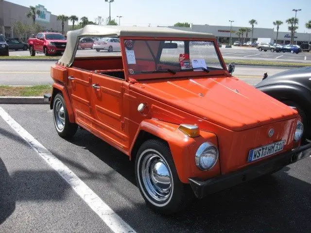
[(30, 133), (23, 129), (3, 108), (0, 107), (0, 116), (71, 186), (71, 188), (86, 202), (86, 204), (104, 221), (113, 231), (118, 233), (136, 233), (122, 218), (117, 215), (96, 193), (93, 192), (67, 166), (58, 160), (52, 153), (42, 146)]

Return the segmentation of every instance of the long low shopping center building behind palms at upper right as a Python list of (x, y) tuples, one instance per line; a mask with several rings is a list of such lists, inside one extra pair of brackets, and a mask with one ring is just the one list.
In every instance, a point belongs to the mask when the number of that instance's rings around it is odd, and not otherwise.
[[(190, 28), (185, 27), (170, 27), (179, 30), (192, 31), (192, 32), (200, 32), (200, 33), (212, 33), (217, 37), (217, 41), (220, 43), (229, 44), (230, 40), (230, 25), (229, 26), (214, 26), (214, 25), (196, 25), (190, 24)], [(232, 26), (231, 29), (231, 41), (232, 44), (234, 41), (239, 40), (239, 36), (236, 34), (240, 28), (244, 27), (235, 27)], [(250, 28), (252, 29), (252, 28)], [(250, 41), (252, 36), (252, 32), (248, 33), (247, 39), (244, 33), (243, 35), (243, 43)], [(253, 42), (257, 40), (257, 38), (273, 38), (276, 42), (276, 29), (274, 28), (257, 28), (254, 27), (253, 33)], [(290, 44), (291, 40), (291, 32), (278, 32), (277, 43), (278, 44)], [(295, 33), (294, 34), (294, 44), (300, 45), (303, 42), (308, 43), (311, 40), (311, 33)], [(242, 36), (240, 38), (242, 42)]]

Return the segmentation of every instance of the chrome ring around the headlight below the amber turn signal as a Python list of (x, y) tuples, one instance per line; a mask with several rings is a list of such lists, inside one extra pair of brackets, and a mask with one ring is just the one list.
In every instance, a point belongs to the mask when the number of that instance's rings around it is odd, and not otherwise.
[[(204, 154), (207, 153), (207, 151), (210, 151), (210, 150), (214, 150), (215, 153), (214, 153), (214, 161), (212, 162), (212, 164), (208, 167), (204, 167), (202, 165), (202, 159), (204, 157)], [(203, 171), (207, 171), (207, 170), (210, 170), (212, 169), (217, 161), (218, 161), (218, 157), (219, 157), (219, 151), (218, 151), (218, 148), (212, 144), (212, 143), (209, 143), (209, 142), (204, 142), (201, 144), (201, 146), (198, 148), (198, 150), (196, 151), (195, 153), (195, 165), (200, 168), (201, 170)]]

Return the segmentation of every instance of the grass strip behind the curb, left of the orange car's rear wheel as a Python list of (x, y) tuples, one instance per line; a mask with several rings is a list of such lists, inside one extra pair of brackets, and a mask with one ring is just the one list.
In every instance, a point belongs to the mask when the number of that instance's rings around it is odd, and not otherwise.
[(35, 85), (35, 86), (0, 85), (0, 96), (43, 96), (46, 93), (52, 94), (51, 85)]

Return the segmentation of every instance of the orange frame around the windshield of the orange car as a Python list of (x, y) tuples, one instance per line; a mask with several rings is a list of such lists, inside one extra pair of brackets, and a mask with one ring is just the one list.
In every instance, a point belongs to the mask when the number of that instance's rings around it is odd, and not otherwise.
[[(125, 40), (164, 40), (164, 41), (208, 41), (213, 42), (214, 48), (216, 51), (216, 54), (218, 56), (220, 65), (223, 67), (223, 69), (209, 70), (210, 72), (206, 72), (204, 70), (196, 70), (193, 71), (190, 70), (180, 70), (176, 72), (176, 74), (171, 73), (161, 73), (161, 72), (148, 72), (148, 73), (139, 73), (139, 74), (129, 74), (128, 72), (128, 64), (126, 59), (126, 52), (125, 52), (125, 46), (124, 41)], [(161, 79), (161, 78), (176, 78), (176, 77), (198, 77), (198, 76), (210, 76), (210, 75), (224, 75), (228, 73), (227, 68), (225, 66), (225, 61), (223, 59), (223, 56), (221, 55), (221, 52), (219, 50), (219, 47), (216, 46), (216, 38), (184, 38), (184, 37), (120, 37), (121, 42), (121, 55), (122, 55), (122, 61), (123, 61), (123, 68), (124, 68), (124, 74), (126, 80), (150, 80), (150, 79)]]

